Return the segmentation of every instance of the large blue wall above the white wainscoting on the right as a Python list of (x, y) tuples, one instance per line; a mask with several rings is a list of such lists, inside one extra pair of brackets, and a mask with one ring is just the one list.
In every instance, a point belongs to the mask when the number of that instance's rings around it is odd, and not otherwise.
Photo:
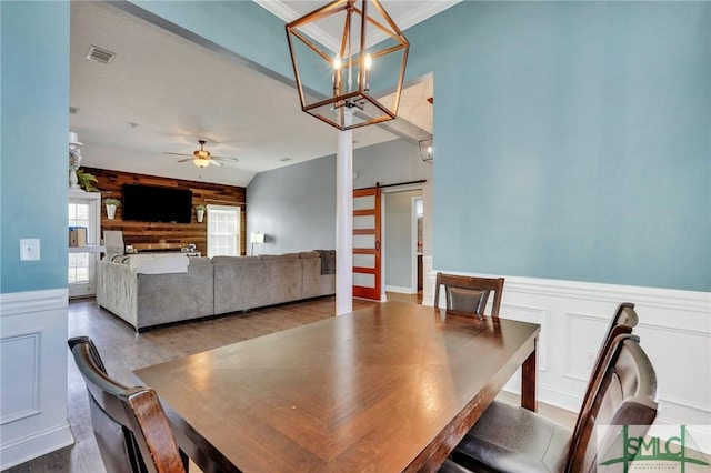
[(405, 33), (435, 269), (711, 290), (711, 3), (462, 2)]

